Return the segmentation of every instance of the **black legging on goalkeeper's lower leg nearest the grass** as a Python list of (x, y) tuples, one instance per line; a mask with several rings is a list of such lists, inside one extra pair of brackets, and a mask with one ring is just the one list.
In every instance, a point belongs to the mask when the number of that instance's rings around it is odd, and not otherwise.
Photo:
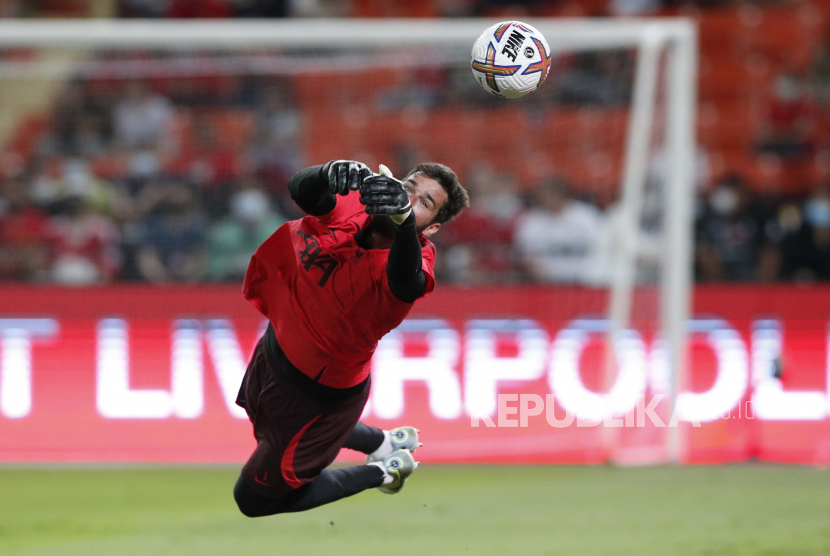
[(239, 511), (248, 517), (262, 517), (290, 512), (303, 512), (330, 504), (383, 484), (383, 471), (376, 465), (360, 465), (345, 469), (323, 469), (320, 476), (291, 494), (280, 498), (263, 496), (239, 477), (233, 496)]

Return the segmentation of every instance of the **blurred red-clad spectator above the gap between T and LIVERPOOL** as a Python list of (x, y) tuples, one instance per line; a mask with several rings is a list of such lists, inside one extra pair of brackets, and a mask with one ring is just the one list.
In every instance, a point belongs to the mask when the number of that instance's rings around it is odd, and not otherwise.
[(116, 277), (121, 265), (118, 228), (93, 212), (88, 199), (76, 194), (63, 199), (49, 228), (52, 281), (81, 286)]

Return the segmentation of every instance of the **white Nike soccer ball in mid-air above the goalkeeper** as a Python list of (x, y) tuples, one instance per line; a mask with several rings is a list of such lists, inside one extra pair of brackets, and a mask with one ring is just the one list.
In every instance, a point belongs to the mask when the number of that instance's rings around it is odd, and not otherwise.
[(550, 71), (550, 47), (542, 33), (520, 21), (489, 27), (473, 45), (473, 75), (496, 96), (519, 98)]

